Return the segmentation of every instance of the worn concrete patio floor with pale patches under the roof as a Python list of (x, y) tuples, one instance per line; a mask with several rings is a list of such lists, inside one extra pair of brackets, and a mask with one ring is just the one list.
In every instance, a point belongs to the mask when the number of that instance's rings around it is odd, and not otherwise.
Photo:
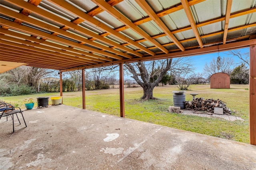
[(0, 170), (255, 170), (256, 146), (71, 106), (0, 120)]

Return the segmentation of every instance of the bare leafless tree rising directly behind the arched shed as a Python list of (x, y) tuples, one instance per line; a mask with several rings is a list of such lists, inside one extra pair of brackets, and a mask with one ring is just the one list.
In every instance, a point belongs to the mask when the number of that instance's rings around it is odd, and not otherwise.
[(212, 74), (217, 72), (224, 72), (230, 74), (230, 72), (232, 71), (231, 66), (234, 64), (234, 60), (231, 57), (223, 57), (219, 60), (218, 63), (215, 58), (213, 58), (209, 64), (206, 63), (204, 65), (204, 75), (210, 77)]

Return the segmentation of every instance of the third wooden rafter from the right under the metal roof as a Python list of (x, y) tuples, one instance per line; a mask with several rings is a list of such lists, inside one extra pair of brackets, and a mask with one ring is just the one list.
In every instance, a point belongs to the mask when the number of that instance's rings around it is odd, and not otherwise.
[(166, 35), (174, 42), (175, 45), (181, 50), (185, 51), (185, 48), (181, 45), (178, 39), (171, 33), (168, 27), (162, 20), (156, 15), (154, 10), (148, 5), (145, 0), (135, 0), (137, 4), (150, 16), (150, 18), (166, 33)]

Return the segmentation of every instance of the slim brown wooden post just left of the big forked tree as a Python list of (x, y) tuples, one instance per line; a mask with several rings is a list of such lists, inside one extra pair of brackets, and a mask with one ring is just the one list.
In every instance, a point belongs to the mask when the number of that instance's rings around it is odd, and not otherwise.
[(124, 64), (119, 64), (120, 116), (124, 115)]

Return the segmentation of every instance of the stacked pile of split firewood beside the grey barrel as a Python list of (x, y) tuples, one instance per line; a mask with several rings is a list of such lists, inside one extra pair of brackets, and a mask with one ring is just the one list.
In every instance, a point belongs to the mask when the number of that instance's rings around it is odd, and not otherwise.
[(195, 111), (207, 111), (209, 113), (214, 113), (214, 107), (222, 107), (224, 114), (231, 114), (230, 109), (226, 107), (226, 104), (221, 100), (214, 99), (204, 99), (204, 98), (195, 98), (192, 102), (185, 102), (185, 107), (187, 110)]

